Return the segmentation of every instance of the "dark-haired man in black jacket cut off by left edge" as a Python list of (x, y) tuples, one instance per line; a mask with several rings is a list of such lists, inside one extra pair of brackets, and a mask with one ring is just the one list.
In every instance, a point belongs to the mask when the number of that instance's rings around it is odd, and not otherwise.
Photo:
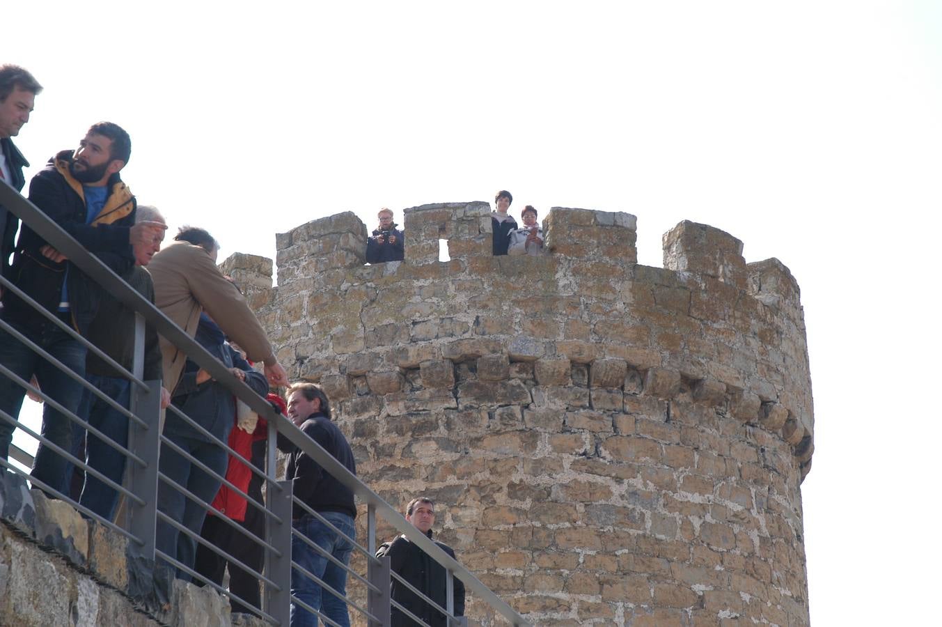
[[(29, 167), (29, 162), (10, 138), (19, 135), (20, 129), (29, 122), (33, 102), (40, 91), (42, 86), (33, 74), (18, 65), (0, 65), (0, 179), (17, 191), (23, 190), (26, 182), (23, 169)], [(13, 253), (17, 222), (15, 215), (0, 206), (0, 272), (4, 275)]]

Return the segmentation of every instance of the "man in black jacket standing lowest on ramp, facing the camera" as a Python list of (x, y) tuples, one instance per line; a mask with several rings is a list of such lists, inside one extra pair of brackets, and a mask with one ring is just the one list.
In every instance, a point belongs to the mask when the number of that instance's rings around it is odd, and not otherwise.
[[(435, 503), (428, 497), (413, 499), (406, 507), (406, 520), (412, 522), (416, 529), (431, 539), (431, 525), (435, 523)], [(455, 556), (455, 552), (447, 544), (437, 541), (435, 544), (445, 553), (452, 557)], [(398, 536), (391, 543), (383, 543), (376, 555), (377, 557), (388, 555), (390, 569), (393, 572), (432, 601), (447, 609), (447, 574), (445, 568), (415, 546), (409, 541), (409, 538)], [(457, 577), (453, 581), (455, 616), (464, 616), (464, 584)], [(445, 614), (432, 607), (429, 602), (420, 598), (396, 579), (393, 579), (391, 594), (393, 601), (398, 602), (431, 627), (447, 627), (448, 622)], [(394, 605), (391, 624), (392, 627), (410, 627), (416, 623)]]

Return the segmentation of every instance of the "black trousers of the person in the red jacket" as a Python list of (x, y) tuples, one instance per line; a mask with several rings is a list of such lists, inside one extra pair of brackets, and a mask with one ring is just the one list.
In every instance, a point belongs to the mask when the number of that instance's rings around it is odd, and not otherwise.
[[(258, 542), (251, 540), (244, 534), (233, 529), (219, 515), (206, 516), (203, 521), (203, 531), (200, 536), (222, 551), (229, 553), (242, 561), (246, 566), (261, 572), (265, 564), (265, 549)], [(265, 537), (265, 515), (250, 503), (245, 512), (245, 520), (241, 523), (243, 528), (254, 536)], [(203, 577), (217, 586), (222, 585), (222, 576), (226, 566), (229, 567), (229, 591), (235, 596), (250, 603), (256, 609), (261, 607), (261, 595), (258, 588), (258, 577), (241, 569), (225, 557), (210, 551), (202, 544), (196, 551), (196, 565), (194, 569)], [(194, 584), (202, 585), (194, 579)], [(241, 602), (232, 600), (232, 611), (250, 612)]]

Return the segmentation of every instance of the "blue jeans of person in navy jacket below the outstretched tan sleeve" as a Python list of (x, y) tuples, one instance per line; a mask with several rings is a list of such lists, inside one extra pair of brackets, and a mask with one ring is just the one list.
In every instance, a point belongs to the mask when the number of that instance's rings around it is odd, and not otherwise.
[[(188, 454), (203, 462), (208, 468), (224, 476), (226, 465), (229, 463), (229, 454), (218, 444), (212, 444), (195, 437), (177, 436), (164, 433), (173, 443)], [(213, 503), (219, 486), (222, 482), (205, 470), (193, 464), (189, 459), (177, 453), (170, 446), (160, 447), (160, 472), (172, 479), (180, 486), (186, 487), (194, 496), (205, 503)], [(157, 509), (166, 514), (171, 520), (184, 525), (195, 536), (200, 536), (203, 529), (203, 519), (206, 510), (203, 505), (191, 501), (187, 496), (168, 485), (163, 480), (157, 484)], [(169, 522), (157, 519), (157, 535), (155, 544), (158, 551), (175, 556), (177, 561), (192, 569), (196, 561), (196, 540), (177, 530)], [(177, 569), (177, 579), (190, 580), (190, 575), (182, 569)]]

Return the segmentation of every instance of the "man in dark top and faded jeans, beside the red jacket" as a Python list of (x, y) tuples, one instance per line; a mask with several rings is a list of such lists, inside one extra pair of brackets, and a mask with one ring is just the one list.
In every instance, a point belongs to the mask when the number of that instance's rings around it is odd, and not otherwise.
[[(288, 417), (307, 437), (356, 474), (353, 452), (347, 438), (331, 421), (331, 406), (324, 390), (313, 383), (291, 386), (288, 389)], [(293, 505), (292, 526), (310, 542), (332, 555), (337, 562), (349, 565), (352, 541), (356, 539), (353, 492), (325, 472), (313, 457), (300, 450), (295, 450), (288, 457), (284, 476), (292, 481), (295, 498), (307, 505), (306, 508), (298, 503)], [(328, 520), (343, 536), (334, 532), (308, 509)], [(346, 596), (347, 571), (295, 535), (291, 536), (291, 561), (327, 586), (333, 587), (342, 597)], [(291, 594), (341, 627), (349, 627), (347, 602), (330, 592), (322, 591), (321, 586), (300, 569), (291, 570)], [(317, 616), (299, 603), (292, 602), (291, 627), (317, 627)]]

